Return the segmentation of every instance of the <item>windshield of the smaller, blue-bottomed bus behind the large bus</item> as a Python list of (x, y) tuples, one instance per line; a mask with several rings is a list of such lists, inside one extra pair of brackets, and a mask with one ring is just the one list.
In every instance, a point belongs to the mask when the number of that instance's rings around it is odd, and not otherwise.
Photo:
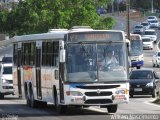
[(131, 40), (131, 56), (142, 55), (143, 43), (142, 40)]

